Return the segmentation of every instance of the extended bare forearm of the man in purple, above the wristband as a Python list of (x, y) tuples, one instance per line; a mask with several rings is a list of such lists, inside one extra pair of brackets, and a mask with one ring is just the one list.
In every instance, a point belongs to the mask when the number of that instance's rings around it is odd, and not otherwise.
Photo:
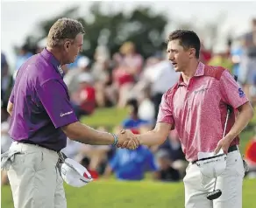
[(64, 133), (68, 135), (68, 138), (75, 140), (76, 142), (94, 145), (110, 145), (114, 143), (114, 137), (113, 135), (110, 135), (110, 133), (97, 131), (81, 122), (69, 124), (62, 129)]

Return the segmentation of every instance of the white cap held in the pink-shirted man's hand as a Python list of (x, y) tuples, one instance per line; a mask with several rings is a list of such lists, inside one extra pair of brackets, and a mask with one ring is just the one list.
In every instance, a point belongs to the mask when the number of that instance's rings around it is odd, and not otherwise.
[(220, 154), (198, 160), (196, 164), (205, 177), (218, 177), (226, 168), (226, 159), (226, 154)]

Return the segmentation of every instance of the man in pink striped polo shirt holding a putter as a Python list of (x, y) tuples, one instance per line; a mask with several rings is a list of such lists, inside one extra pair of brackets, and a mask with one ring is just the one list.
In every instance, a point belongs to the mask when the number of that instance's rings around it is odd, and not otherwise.
[[(228, 70), (205, 66), (199, 59), (200, 39), (194, 31), (178, 30), (167, 38), (168, 59), (180, 80), (163, 95), (156, 127), (139, 135), (141, 144), (160, 144), (168, 132), (176, 128), (181, 146), (188, 160), (185, 185), (186, 208), (242, 208), (242, 184), (245, 170), (238, 151), (239, 133), (252, 119), (253, 109)], [(232, 108), (224, 123), (227, 107)], [(129, 142), (124, 142), (123, 148)], [(223, 149), (226, 168), (217, 177), (217, 189), (222, 195), (208, 200), (214, 189), (215, 178), (202, 175), (195, 162), (199, 152)]]

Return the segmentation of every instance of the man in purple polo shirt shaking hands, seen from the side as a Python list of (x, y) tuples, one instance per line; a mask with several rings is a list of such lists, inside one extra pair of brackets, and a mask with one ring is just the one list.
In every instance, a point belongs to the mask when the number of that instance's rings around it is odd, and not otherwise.
[(74, 62), (82, 51), (83, 34), (78, 21), (59, 19), (48, 33), (46, 49), (18, 71), (8, 104), (14, 140), (8, 152), (8, 177), (15, 208), (67, 207), (56, 165), (67, 136), (95, 145), (121, 145), (129, 138), (130, 148), (139, 145), (129, 132), (112, 135), (77, 120), (61, 66)]

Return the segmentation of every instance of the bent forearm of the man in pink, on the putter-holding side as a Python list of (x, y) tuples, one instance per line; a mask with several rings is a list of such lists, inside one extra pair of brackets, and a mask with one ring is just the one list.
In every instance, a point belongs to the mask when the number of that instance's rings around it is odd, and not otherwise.
[[(249, 103), (246, 105), (250, 105)], [(253, 117), (253, 109), (252, 107), (244, 107), (238, 114), (238, 118), (235, 121), (233, 127), (230, 132), (226, 135), (231, 138), (231, 141), (239, 135), (242, 130), (248, 125), (249, 121), (252, 120)]]

